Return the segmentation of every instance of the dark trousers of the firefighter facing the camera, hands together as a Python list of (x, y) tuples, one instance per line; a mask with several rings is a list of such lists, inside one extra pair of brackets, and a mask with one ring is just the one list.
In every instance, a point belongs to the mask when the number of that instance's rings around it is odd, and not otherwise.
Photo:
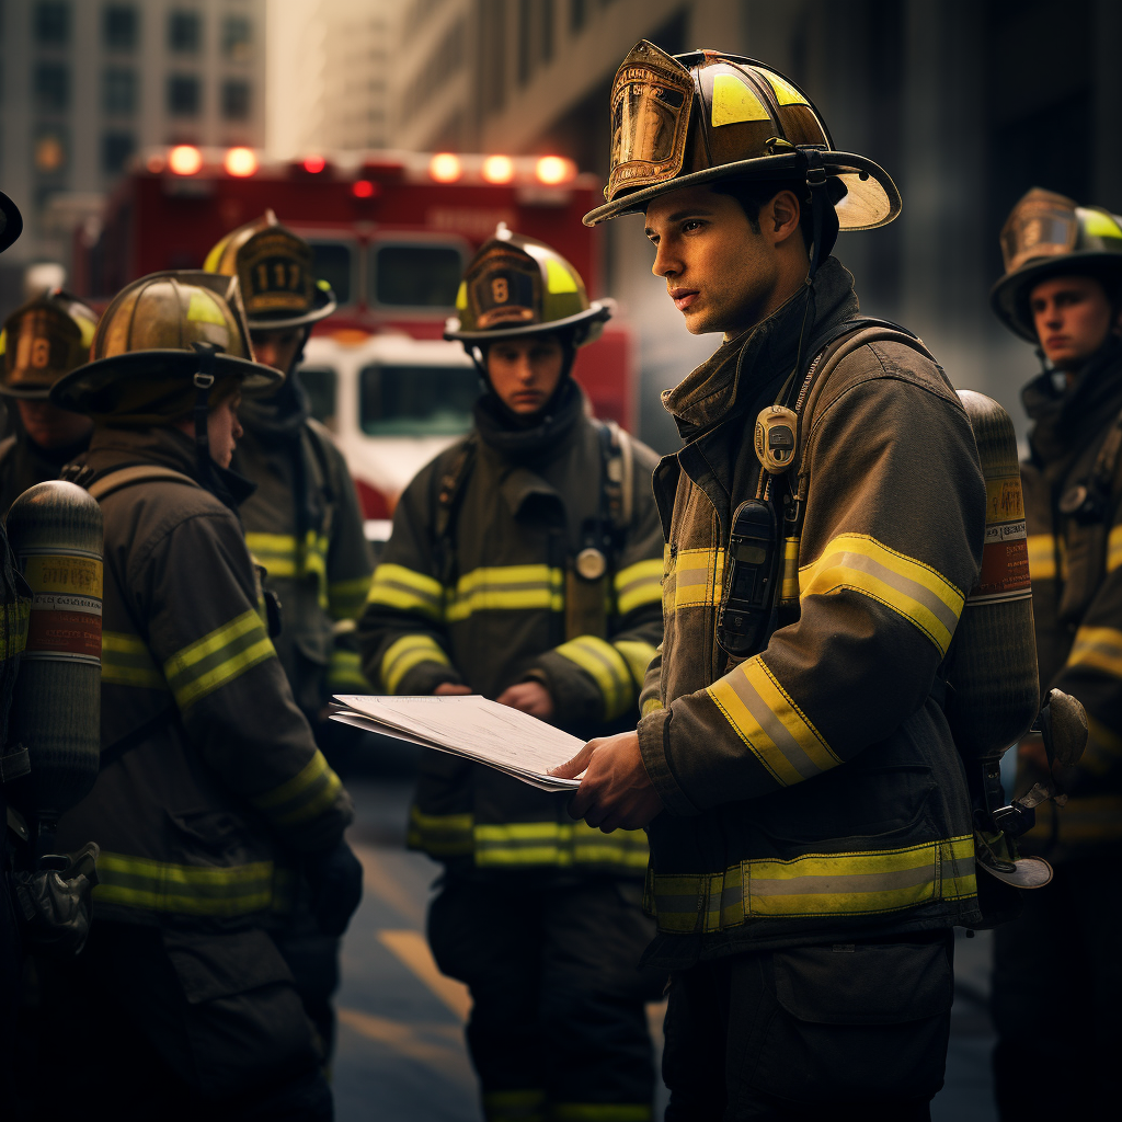
[(638, 959), (642, 886), (610, 877), (449, 876), (429, 912), (436, 964), (467, 983), (488, 1122), (646, 1122), (654, 1064)]

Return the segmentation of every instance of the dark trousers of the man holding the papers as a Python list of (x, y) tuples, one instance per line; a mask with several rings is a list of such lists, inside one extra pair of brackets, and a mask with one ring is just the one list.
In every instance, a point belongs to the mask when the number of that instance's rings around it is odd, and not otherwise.
[(666, 1122), (919, 1122), (942, 1086), (949, 931), (733, 955), (671, 977)]

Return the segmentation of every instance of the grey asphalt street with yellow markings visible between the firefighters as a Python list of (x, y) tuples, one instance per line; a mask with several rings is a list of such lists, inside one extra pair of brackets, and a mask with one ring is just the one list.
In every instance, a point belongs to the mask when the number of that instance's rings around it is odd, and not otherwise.
[[(357, 817), (350, 840), (362, 861), (362, 904), (343, 947), (333, 1068), (338, 1122), (480, 1122), (463, 1046), (470, 1001), (443, 977), (424, 938), (425, 907), (440, 866), (404, 848), (408, 761), (388, 775), (348, 782)], [(994, 1122), (985, 1012), (990, 940), (957, 932), (956, 997), (947, 1084), (935, 1122)], [(659, 1006), (652, 1026), (660, 1027)], [(657, 1039), (657, 1037), (656, 1037)], [(655, 1118), (661, 1118), (665, 1091)]]

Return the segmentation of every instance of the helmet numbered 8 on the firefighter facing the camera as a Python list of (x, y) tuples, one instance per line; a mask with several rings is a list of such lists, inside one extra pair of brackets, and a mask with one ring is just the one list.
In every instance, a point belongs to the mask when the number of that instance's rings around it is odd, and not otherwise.
[(614, 305), (589, 301), (580, 274), (544, 242), (500, 222), (471, 259), (445, 339), (479, 343), (571, 331), (576, 346), (596, 339)]

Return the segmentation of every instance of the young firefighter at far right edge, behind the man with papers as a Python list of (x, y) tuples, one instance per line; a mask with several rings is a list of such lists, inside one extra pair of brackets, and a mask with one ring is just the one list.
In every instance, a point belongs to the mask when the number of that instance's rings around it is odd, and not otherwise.
[[(1043, 373), (1023, 390), (1021, 466), (1041, 691), (1087, 710), (1067, 804), (1037, 808), (1020, 847), (1052, 882), (996, 931), (994, 1076), (1003, 1119), (1106, 1118), (1116, 1109), (1122, 963), (1122, 219), (1032, 188), (1001, 233), (993, 310)], [(1039, 737), (1018, 754), (1018, 793), (1049, 778)], [(1061, 953), (1059, 948), (1063, 948)], [(1058, 958), (1063, 966), (1058, 965)], [(1056, 994), (1046, 1017), (1033, 987)], [(1069, 1078), (1045, 1079), (1045, 1068)], [(1077, 1074), (1076, 1074), (1077, 1073)]]

